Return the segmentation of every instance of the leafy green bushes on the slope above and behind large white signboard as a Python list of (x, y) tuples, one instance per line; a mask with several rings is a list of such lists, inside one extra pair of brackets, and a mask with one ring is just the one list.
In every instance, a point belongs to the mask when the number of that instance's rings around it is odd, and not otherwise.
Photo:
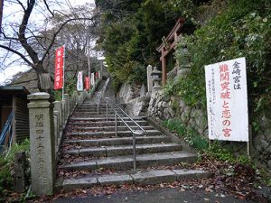
[(179, 43), (177, 60), (187, 60), (182, 54), (187, 47), (192, 68), (185, 79), (171, 84), (171, 91), (190, 105), (205, 106), (204, 65), (246, 57), (250, 113), (262, 112), (271, 104), (270, 36), (270, 1), (229, 2), (227, 9)]

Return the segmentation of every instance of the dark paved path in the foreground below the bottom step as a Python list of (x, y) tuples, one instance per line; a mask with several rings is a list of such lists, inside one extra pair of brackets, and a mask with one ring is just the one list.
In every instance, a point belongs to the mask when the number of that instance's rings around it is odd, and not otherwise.
[(150, 191), (117, 192), (112, 196), (57, 199), (53, 203), (253, 203), (204, 190), (154, 189)]

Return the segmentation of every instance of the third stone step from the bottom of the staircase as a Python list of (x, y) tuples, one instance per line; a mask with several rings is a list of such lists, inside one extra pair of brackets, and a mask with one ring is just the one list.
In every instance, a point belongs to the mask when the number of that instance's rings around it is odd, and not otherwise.
[[(136, 144), (136, 154), (182, 151), (182, 145), (177, 143)], [(112, 157), (133, 154), (133, 145), (103, 146), (82, 149), (71, 149), (64, 153), (91, 157)]]

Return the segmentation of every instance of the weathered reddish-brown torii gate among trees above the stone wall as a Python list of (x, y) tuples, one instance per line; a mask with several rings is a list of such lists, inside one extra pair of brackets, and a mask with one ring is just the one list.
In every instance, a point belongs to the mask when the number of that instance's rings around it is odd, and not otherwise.
[(179, 18), (177, 23), (174, 25), (173, 30), (163, 37), (161, 45), (156, 49), (156, 51), (161, 52), (160, 60), (162, 61), (162, 84), (165, 86), (166, 83), (166, 56), (173, 51), (176, 43), (178, 42), (179, 36), (181, 35), (182, 27), (184, 23), (184, 18)]

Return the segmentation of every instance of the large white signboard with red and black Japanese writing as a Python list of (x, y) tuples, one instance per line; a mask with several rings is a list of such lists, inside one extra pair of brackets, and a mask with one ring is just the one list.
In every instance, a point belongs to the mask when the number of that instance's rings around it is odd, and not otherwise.
[(248, 142), (246, 59), (205, 66), (209, 139)]

